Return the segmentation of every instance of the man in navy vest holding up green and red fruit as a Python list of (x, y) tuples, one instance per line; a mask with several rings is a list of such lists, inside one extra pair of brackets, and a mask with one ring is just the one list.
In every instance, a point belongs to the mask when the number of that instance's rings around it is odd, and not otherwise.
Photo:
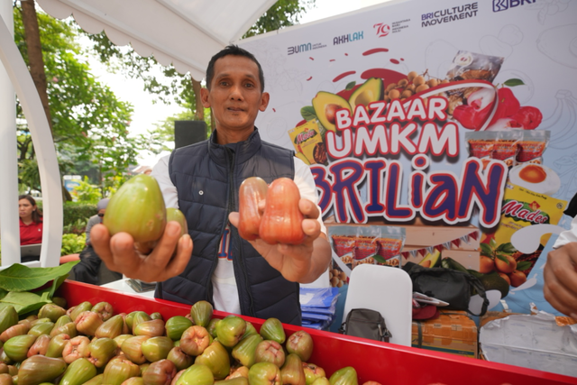
[[(300, 325), (298, 283), (313, 282), (327, 270), (331, 249), (310, 170), (292, 151), (262, 142), (254, 126), (269, 97), (261, 65), (250, 52), (228, 46), (212, 58), (201, 98), (212, 108), (215, 132), (206, 142), (173, 151), (151, 174), (166, 206), (179, 207), (186, 215), (188, 234), (179, 237), (179, 224), (169, 222), (158, 245), (143, 256), (129, 234), (111, 237), (104, 225), (96, 225), (92, 243), (110, 270), (161, 282), (158, 298), (190, 304), (205, 299), (217, 310)], [(239, 189), (250, 177), (268, 184), (294, 180), (300, 200), (292, 219), (305, 234), (302, 243), (271, 245), (261, 238), (241, 238)], [(269, 203), (261, 201), (259, 208)], [(270, 226), (267, 233), (274, 234), (274, 224)]]

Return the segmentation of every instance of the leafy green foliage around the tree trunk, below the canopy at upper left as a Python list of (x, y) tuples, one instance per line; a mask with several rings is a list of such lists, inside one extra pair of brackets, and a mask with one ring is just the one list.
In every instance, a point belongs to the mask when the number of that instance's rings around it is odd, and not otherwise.
[[(125, 178), (128, 167), (136, 164), (138, 151), (146, 148), (149, 140), (143, 135), (129, 135), (132, 105), (118, 100), (90, 73), (76, 41), (76, 23), (58, 21), (41, 12), (38, 23), (60, 172), (74, 172), (74, 165), (90, 162), (98, 170), (96, 183), (104, 192), (114, 183), (114, 176)], [(14, 41), (28, 63), (23, 19), (17, 5)], [(19, 104), (17, 115), (21, 189), (40, 189), (32, 137)]]

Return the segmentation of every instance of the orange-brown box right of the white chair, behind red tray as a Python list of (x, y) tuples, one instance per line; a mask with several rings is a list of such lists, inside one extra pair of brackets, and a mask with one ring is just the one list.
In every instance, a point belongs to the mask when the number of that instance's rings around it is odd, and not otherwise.
[(442, 310), (440, 313), (436, 319), (413, 321), (411, 346), (477, 358), (477, 325), (467, 312)]

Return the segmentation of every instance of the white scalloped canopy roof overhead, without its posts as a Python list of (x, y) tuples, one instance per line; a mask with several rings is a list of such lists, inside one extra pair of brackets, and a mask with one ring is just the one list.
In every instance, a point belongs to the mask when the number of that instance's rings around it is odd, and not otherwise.
[(103, 30), (180, 73), (204, 78), (208, 60), (240, 39), (275, 0), (36, 0), (56, 18), (72, 15), (87, 32)]

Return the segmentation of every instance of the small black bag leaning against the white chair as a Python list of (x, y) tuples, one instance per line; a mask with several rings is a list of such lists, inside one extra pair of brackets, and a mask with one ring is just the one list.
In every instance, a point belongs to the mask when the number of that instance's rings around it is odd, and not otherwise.
[(351, 310), (346, 316), (346, 321), (341, 325), (339, 333), (386, 343), (392, 337), (389, 329), (387, 329), (387, 324), (385, 324), (385, 318), (378, 311), (368, 308)]

